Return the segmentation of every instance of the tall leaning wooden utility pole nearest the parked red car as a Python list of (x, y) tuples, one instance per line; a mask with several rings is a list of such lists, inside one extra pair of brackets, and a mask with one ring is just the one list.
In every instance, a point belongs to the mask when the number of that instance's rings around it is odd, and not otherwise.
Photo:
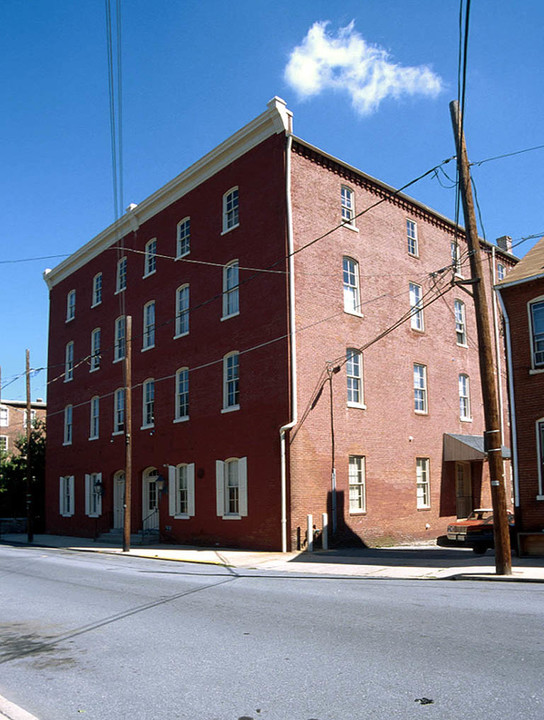
[(510, 553), (510, 534), (508, 515), (506, 512), (506, 489), (502, 463), (502, 434), (497, 400), (497, 382), (495, 363), (489, 329), (489, 311), (485, 294), (485, 285), (480, 258), (480, 241), (476, 226), (472, 184), (468, 164), (465, 136), (462, 132), (462, 116), (456, 101), (450, 103), (453, 134), (457, 149), (457, 165), (465, 231), (470, 256), (470, 270), (474, 280), (474, 309), (476, 312), (476, 328), (478, 331), (478, 355), (480, 359), (480, 377), (485, 415), (485, 450), (489, 462), (491, 481), (491, 500), (493, 503), (493, 533), (495, 536), (495, 571), (498, 575), (512, 574), (512, 557)]

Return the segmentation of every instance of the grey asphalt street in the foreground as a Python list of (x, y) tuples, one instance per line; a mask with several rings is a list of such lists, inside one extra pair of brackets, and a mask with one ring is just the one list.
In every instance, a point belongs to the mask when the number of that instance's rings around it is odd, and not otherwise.
[(39, 720), (544, 716), (540, 584), (0, 546), (0, 694)]

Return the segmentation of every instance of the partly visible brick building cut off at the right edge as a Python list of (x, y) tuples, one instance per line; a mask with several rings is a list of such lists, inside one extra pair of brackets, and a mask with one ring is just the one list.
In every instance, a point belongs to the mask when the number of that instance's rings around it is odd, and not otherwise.
[(516, 524), (522, 532), (540, 532), (544, 530), (544, 239), (496, 287), (506, 328)]

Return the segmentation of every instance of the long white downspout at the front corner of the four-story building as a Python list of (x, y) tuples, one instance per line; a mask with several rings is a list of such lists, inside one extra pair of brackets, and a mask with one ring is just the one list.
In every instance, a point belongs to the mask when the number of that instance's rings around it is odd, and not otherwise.
[(297, 352), (295, 342), (295, 260), (293, 247), (293, 211), (291, 205), (291, 146), (293, 136), (287, 134), (285, 160), (285, 195), (287, 206), (287, 247), (289, 251), (289, 343), (291, 349), (291, 421), (280, 428), (281, 448), (281, 551), (287, 552), (287, 460), (286, 439), (288, 430), (297, 424)]

